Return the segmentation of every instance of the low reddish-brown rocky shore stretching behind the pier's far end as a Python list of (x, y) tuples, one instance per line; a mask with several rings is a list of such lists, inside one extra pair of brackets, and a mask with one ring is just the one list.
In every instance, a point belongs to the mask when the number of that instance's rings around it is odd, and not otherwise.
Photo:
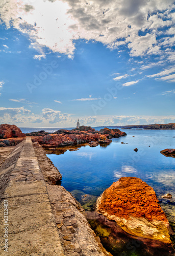
[(90, 143), (91, 146), (97, 146), (98, 144), (110, 144), (112, 142), (112, 138), (127, 135), (119, 129), (104, 128), (100, 131), (95, 131), (95, 129), (92, 129), (90, 126), (80, 126), (79, 129), (76, 128), (70, 131), (58, 130), (51, 134), (44, 131), (22, 134), (20, 129), (15, 126), (15, 131), (18, 133), (11, 133), (11, 130), (14, 130), (13, 126), (15, 125), (0, 125), (0, 146), (17, 145), (19, 142), (24, 140), (25, 136), (30, 136), (32, 138), (32, 142), (38, 142), (45, 148), (77, 145), (82, 143)]

